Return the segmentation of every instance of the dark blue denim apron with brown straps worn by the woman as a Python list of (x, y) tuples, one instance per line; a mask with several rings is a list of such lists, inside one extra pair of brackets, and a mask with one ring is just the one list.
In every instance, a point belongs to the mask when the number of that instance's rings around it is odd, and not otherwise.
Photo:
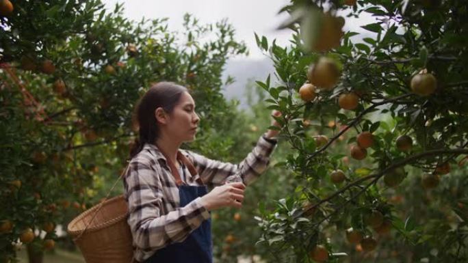
[[(187, 165), (192, 176), (196, 173), (192, 163), (178, 152), (177, 157), (182, 163)], [(190, 186), (183, 185), (180, 179), (179, 171), (175, 165), (166, 158), (172, 170), (172, 175), (176, 178), (179, 188), (180, 206), (186, 206), (194, 199), (207, 194), (207, 186)], [(185, 174), (185, 169), (182, 170)], [(198, 181), (198, 182), (201, 182)], [(211, 263), (213, 262), (213, 251), (211, 241), (211, 219), (203, 221), (203, 223), (192, 233), (187, 236), (181, 243), (172, 243), (162, 249), (158, 249), (145, 263)]]

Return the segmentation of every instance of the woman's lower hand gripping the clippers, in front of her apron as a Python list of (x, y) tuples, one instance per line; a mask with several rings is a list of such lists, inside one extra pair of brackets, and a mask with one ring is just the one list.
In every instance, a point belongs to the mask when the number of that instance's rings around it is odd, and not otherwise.
[(223, 184), (203, 195), (201, 201), (207, 210), (216, 210), (222, 207), (241, 208), (244, 201), (244, 189), (246, 186), (242, 182)]

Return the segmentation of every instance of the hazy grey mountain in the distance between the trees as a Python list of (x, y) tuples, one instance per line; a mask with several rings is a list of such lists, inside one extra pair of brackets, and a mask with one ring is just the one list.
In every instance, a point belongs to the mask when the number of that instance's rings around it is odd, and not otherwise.
[(223, 90), (224, 96), (228, 99), (237, 99), (240, 102), (239, 107), (245, 109), (248, 107), (246, 102), (246, 85), (248, 81), (265, 81), (268, 74), (274, 73), (273, 62), (265, 59), (230, 59), (226, 63), (222, 79), (227, 76), (234, 77), (235, 82), (228, 85)]

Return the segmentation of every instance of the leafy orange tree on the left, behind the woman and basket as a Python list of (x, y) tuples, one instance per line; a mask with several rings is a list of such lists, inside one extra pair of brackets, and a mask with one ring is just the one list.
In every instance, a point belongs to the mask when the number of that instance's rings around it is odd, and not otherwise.
[(130, 21), (121, 5), (109, 12), (100, 1), (0, 1), (1, 262), (15, 261), (21, 244), (40, 262), (56, 226), (107, 194), (134, 139), (133, 106), (151, 83), (187, 86), (203, 120), (192, 148), (224, 150), (222, 137), (203, 141), (235, 115), (222, 67), (246, 47), (226, 20), (186, 15), (184, 27)]

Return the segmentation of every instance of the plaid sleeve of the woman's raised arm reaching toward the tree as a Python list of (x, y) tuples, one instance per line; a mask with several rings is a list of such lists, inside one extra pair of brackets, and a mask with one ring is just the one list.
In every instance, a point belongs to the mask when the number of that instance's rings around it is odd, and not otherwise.
[(226, 181), (242, 180), (248, 185), (267, 169), (275, 146), (276, 140), (261, 136), (253, 150), (239, 164), (212, 160), (190, 151), (187, 153), (205, 184), (212, 187), (224, 184)]

